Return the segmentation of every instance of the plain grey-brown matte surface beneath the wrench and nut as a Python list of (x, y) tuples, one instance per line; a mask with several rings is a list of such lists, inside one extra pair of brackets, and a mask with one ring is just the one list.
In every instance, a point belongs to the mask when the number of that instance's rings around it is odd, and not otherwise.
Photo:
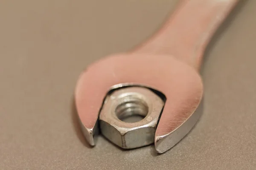
[(255, 170), (256, 0), (242, 0), (207, 48), (204, 113), (172, 150), (85, 142), (81, 71), (162, 26), (177, 0), (0, 0), (0, 170)]

